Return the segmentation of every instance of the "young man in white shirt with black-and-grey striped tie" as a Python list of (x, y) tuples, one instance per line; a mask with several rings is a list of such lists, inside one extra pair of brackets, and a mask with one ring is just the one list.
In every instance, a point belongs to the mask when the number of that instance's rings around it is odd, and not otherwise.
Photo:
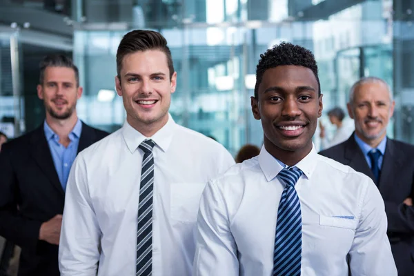
[(235, 161), (168, 114), (177, 73), (161, 34), (124, 36), (115, 81), (126, 123), (81, 152), (72, 167), (61, 275), (190, 275), (201, 192)]

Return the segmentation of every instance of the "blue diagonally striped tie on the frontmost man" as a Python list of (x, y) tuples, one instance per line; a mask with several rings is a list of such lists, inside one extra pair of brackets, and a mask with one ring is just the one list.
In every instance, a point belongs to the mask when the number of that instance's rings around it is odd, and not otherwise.
[(277, 210), (273, 275), (300, 275), (302, 260), (302, 213), (295, 184), (302, 175), (297, 168), (284, 168), (279, 172), (286, 187)]

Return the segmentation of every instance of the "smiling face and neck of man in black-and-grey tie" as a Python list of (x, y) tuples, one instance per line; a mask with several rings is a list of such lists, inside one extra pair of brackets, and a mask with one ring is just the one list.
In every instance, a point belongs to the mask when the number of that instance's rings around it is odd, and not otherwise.
[(169, 76), (166, 54), (160, 50), (146, 50), (126, 55), (122, 61), (121, 79), (115, 77), (128, 123), (146, 136), (168, 121), (177, 73), (174, 72), (171, 79)]

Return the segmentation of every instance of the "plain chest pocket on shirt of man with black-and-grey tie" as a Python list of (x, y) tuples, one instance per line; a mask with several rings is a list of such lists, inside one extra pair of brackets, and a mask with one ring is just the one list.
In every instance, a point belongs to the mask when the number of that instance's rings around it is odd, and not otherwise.
[(170, 212), (171, 219), (194, 224), (205, 183), (173, 183), (171, 184)]

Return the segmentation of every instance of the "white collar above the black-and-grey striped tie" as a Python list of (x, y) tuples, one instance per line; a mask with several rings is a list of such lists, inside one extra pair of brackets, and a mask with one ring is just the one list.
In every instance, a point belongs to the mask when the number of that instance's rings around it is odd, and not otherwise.
[(141, 134), (141, 132), (135, 128), (132, 128), (132, 126), (128, 124), (128, 121), (125, 121), (121, 131), (124, 136), (126, 146), (128, 146), (131, 153), (135, 152), (138, 146), (146, 139), (152, 139), (152, 141), (154, 141), (155, 144), (161, 148), (161, 150), (166, 152), (170, 146), (175, 126), (176, 124), (174, 119), (172, 119), (171, 115), (168, 113), (167, 124), (158, 130), (155, 135), (152, 135), (152, 137), (145, 137)]

